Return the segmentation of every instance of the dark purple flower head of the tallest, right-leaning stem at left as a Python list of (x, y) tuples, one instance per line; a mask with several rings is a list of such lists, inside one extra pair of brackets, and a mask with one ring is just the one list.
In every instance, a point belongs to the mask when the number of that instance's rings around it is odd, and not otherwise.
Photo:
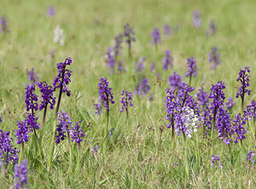
[(67, 93), (70, 96), (71, 91), (67, 89), (67, 84), (71, 82), (70, 77), (72, 71), (67, 69), (68, 65), (72, 64), (72, 60), (68, 57), (64, 62), (57, 63), (58, 75), (54, 79), (54, 89), (60, 88), (63, 93)]

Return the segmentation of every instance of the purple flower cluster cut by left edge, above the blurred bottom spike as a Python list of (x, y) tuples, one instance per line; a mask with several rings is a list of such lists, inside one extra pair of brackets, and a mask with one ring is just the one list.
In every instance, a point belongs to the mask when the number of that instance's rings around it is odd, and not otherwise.
[(9, 135), (9, 131), (0, 129), (0, 166), (8, 163), (17, 163), (19, 160), (20, 150), (12, 145), (13, 138)]

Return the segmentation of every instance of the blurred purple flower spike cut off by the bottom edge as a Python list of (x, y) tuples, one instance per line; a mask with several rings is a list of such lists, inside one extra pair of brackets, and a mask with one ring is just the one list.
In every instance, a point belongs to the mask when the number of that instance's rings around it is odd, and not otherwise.
[(20, 164), (15, 164), (15, 189), (26, 188), (27, 177), (27, 160), (24, 159)]

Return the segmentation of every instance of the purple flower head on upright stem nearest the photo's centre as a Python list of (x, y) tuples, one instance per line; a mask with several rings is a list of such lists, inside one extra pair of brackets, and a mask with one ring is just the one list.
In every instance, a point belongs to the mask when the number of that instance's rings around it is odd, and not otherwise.
[(100, 83), (98, 83), (99, 87), (99, 104), (104, 103), (104, 106), (106, 107), (107, 112), (109, 111), (109, 102), (112, 104), (113, 101), (113, 93), (112, 88), (108, 86), (108, 80), (105, 77), (102, 77), (100, 79)]

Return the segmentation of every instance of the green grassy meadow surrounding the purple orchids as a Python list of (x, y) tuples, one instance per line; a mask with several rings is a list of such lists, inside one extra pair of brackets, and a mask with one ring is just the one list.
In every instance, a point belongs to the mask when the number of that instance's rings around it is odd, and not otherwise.
[[(47, 16), (49, 6), (55, 15)], [(229, 146), (218, 139), (203, 136), (198, 129), (198, 146), (195, 140), (176, 136), (172, 144), (172, 131), (166, 128), (165, 108), (168, 77), (173, 72), (185, 74), (187, 58), (193, 56), (199, 68), (192, 78), (191, 87), (204, 85), (210, 92), (211, 85), (223, 81), (226, 99), (233, 97), (236, 106), (231, 117), (241, 112), (241, 99), (236, 99), (240, 83), (236, 82), (239, 70), (250, 66), (251, 95), (246, 95), (245, 105), (256, 99), (256, 3), (251, 1), (224, 0), (99, 0), (99, 1), (4, 1), (0, 15), (9, 20), (9, 33), (0, 33), (0, 129), (9, 130), (16, 144), (17, 121), (26, 118), (25, 88), (29, 83), (27, 71), (38, 74), (39, 80), (52, 83), (57, 75), (56, 63), (71, 57), (73, 64), (71, 96), (62, 95), (61, 111), (68, 112), (73, 123), (82, 120), (86, 131), (79, 149), (72, 143), (72, 156), (67, 140), (55, 146), (51, 167), (47, 165), (55, 110), (48, 110), (42, 141), (43, 155), (35, 149), (32, 133), (25, 144), (28, 160), (29, 188), (254, 188), (256, 187), (255, 163), (247, 163), (246, 155), (255, 152), (253, 120), (247, 121), (246, 139)], [(199, 10), (201, 27), (193, 26), (193, 14)], [(217, 26), (215, 35), (207, 37), (210, 21)], [(125, 40), (119, 60), (127, 72), (110, 73), (106, 68), (105, 54), (114, 46), (114, 37), (124, 31), (129, 22), (135, 31), (132, 58), (128, 57)], [(172, 27), (172, 35), (165, 36), (164, 26)], [(65, 34), (64, 45), (54, 43), (55, 27), (61, 26)], [(150, 32), (160, 29), (161, 44), (155, 50)], [(217, 47), (221, 64), (210, 70), (209, 53)], [(53, 58), (50, 51), (55, 49)], [(172, 51), (173, 68), (163, 70), (162, 60), (166, 49)], [(137, 73), (137, 61), (145, 57), (144, 69)], [(152, 62), (155, 72), (150, 72)], [(159, 75), (160, 73), (160, 75)], [(98, 100), (98, 83), (107, 77), (113, 88), (110, 105), (107, 152), (102, 152), (102, 133), (106, 128), (106, 115), (96, 115), (94, 104)], [(129, 109), (127, 120), (121, 108), (120, 93), (126, 89), (134, 92), (139, 77), (147, 77), (151, 86), (145, 97), (134, 95), (134, 106)], [(40, 91), (36, 89), (36, 94)], [(58, 92), (55, 92), (58, 97)], [(225, 101), (226, 102), (226, 101)], [(42, 123), (43, 111), (37, 112)], [(164, 126), (161, 133), (160, 128)], [(161, 144), (161, 147), (160, 147)], [(93, 156), (93, 147), (101, 146)], [(197, 153), (199, 157), (197, 156)], [(212, 154), (219, 155), (222, 169), (211, 165)], [(72, 157), (72, 162), (70, 161)], [(255, 159), (255, 157), (254, 157)], [(14, 164), (1, 168), (0, 188), (14, 186)]]

